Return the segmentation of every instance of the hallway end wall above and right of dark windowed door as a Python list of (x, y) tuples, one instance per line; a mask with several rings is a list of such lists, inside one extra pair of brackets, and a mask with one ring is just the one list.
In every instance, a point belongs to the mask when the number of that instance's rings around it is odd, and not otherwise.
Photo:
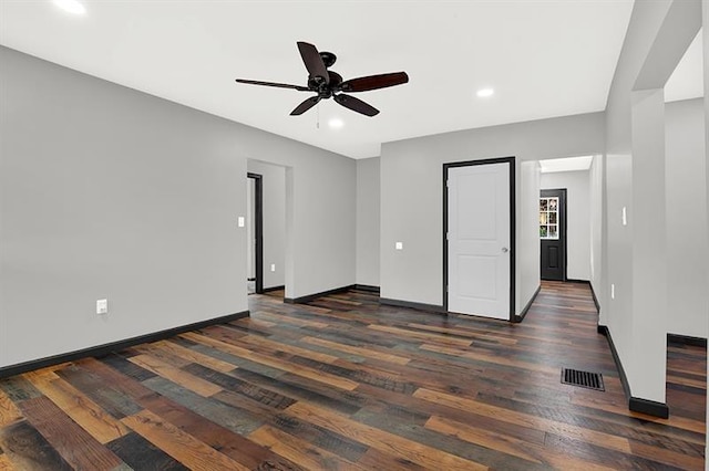
[(542, 174), (542, 189), (566, 188), (566, 276), (590, 280), (590, 175)]

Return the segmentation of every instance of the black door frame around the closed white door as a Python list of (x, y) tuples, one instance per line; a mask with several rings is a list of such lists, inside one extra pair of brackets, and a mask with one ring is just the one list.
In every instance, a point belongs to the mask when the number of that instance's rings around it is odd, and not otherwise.
[(500, 157), (482, 160), (466, 160), (443, 164), (443, 310), (448, 312), (448, 177), (449, 169), (453, 167), (469, 167), (474, 165), (507, 164), (510, 167), (510, 322), (520, 322), (521, 317), (515, 315), (516, 291), (515, 291), (515, 158)]

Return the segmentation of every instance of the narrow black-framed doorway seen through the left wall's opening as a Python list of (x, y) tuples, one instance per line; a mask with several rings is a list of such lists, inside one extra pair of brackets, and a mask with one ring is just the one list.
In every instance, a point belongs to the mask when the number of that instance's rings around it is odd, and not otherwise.
[(264, 292), (264, 185), (259, 174), (247, 174), (247, 292)]

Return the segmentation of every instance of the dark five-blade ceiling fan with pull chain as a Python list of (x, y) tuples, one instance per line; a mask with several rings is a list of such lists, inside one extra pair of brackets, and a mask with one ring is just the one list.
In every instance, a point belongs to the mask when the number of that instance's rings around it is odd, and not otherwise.
[(358, 78), (342, 81), (342, 76), (328, 69), (335, 64), (337, 56), (331, 52), (318, 52), (317, 48), (307, 42), (298, 42), (298, 50), (302, 62), (308, 70), (308, 85), (289, 85), (286, 83), (260, 82), (254, 80), (236, 78), (238, 83), (250, 85), (275, 86), (279, 88), (292, 88), (298, 92), (315, 92), (317, 95), (307, 98), (290, 112), (291, 116), (301, 115), (320, 102), (320, 100), (335, 98), (337, 103), (346, 108), (361, 113), (366, 116), (374, 116), (379, 113), (376, 107), (342, 92), (367, 92), (370, 90), (386, 88), (388, 86), (401, 85), (409, 82), (405, 72), (393, 72), (380, 75), (368, 75)]

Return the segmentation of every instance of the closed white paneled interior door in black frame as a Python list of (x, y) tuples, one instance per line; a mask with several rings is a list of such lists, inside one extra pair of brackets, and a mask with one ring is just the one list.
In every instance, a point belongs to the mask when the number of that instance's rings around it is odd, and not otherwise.
[(510, 164), (448, 169), (448, 310), (510, 320)]

